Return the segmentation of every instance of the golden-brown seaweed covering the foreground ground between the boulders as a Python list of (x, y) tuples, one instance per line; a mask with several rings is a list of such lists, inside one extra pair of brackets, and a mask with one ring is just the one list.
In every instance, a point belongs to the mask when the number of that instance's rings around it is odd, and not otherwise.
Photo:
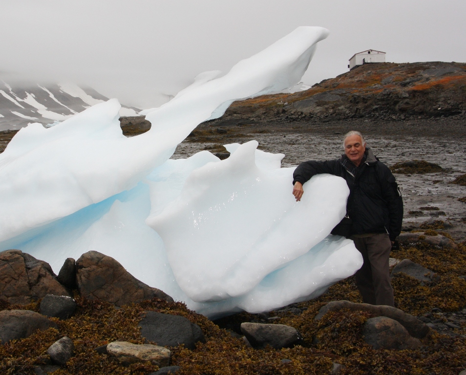
[[(466, 281), (459, 277), (466, 274), (465, 250), (465, 242), (459, 244), (458, 250), (419, 244), (391, 254), (418, 262), (438, 275), (432, 283), (424, 285), (404, 274), (392, 279), (397, 307), (431, 321), (430, 325), (436, 328), (418, 350), (372, 349), (362, 336), (362, 325), (369, 317), (366, 312), (329, 312), (320, 321), (314, 320), (326, 302), (341, 299), (361, 302), (350, 277), (317, 299), (266, 314), (240, 313), (215, 322), (189, 311), (182, 303), (154, 299), (119, 309), (75, 295), (79, 307), (74, 316), (65, 321), (52, 318), (59, 331), (49, 329), (0, 346), (0, 374), (34, 374), (34, 367), (49, 362), (47, 348), (64, 335), (74, 341), (75, 356), (55, 375), (150, 374), (157, 370), (150, 363), (125, 367), (95, 349), (116, 340), (143, 343), (138, 322), (144, 311), (152, 310), (185, 316), (204, 332), (206, 343), (197, 343), (195, 350), (171, 348), (171, 363), (181, 367), (179, 375), (321, 375), (331, 374), (333, 363), (345, 366), (339, 374), (457, 375), (466, 368)], [(0, 309), (38, 311), (38, 304), (25, 307), (3, 304)], [(237, 334), (239, 324), (244, 321), (293, 326), (302, 334), (303, 344), (281, 350), (252, 349)], [(283, 359), (290, 361), (282, 362)]]

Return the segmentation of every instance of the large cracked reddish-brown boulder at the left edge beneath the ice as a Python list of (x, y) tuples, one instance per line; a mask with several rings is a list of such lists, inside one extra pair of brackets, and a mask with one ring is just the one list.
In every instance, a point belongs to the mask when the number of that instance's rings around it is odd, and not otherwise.
[(0, 299), (26, 305), (46, 294), (67, 295), (47, 262), (21, 250), (0, 252)]

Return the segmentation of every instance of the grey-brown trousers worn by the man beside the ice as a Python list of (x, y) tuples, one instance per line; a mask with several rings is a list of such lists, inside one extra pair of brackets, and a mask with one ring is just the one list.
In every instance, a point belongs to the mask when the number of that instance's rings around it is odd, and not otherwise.
[(395, 306), (393, 288), (390, 283), (388, 258), (392, 243), (387, 233), (370, 237), (351, 237), (356, 249), (362, 254), (364, 263), (356, 272), (356, 285), (364, 303)]

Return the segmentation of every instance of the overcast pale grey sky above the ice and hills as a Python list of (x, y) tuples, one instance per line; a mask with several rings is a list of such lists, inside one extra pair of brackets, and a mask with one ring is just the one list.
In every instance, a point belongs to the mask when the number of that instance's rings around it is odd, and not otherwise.
[(149, 108), (297, 26), (330, 30), (307, 84), (369, 48), (389, 62), (466, 62), (465, 15), (465, 0), (0, 0), (0, 71)]

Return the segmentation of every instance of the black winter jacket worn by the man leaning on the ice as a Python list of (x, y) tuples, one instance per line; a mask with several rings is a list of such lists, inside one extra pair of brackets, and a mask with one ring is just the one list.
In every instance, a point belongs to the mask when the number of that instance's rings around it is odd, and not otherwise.
[(312, 176), (329, 173), (342, 177), (350, 189), (346, 212), (352, 219), (351, 234), (388, 233), (394, 241), (400, 234), (403, 201), (400, 189), (388, 167), (366, 147), (359, 167), (343, 154), (338, 160), (301, 163), (293, 174), (304, 184)]

